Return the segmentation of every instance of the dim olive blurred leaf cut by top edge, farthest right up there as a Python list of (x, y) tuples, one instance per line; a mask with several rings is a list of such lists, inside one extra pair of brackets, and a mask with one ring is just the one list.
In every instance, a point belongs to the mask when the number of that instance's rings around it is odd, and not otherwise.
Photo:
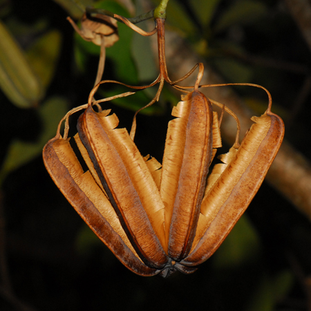
[(232, 1), (232, 6), (223, 13), (218, 19), (214, 30), (216, 32), (225, 30), (225, 28), (234, 24), (245, 25), (254, 23), (267, 14), (267, 7), (264, 3), (256, 0)]

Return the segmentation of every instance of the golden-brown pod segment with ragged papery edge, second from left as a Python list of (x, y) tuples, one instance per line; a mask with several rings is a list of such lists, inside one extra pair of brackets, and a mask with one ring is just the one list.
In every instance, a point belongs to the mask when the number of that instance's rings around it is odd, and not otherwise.
[(168, 258), (160, 243), (165, 241), (164, 207), (158, 187), (127, 131), (115, 126), (115, 115), (88, 106), (77, 129), (133, 247), (146, 265), (159, 269)]

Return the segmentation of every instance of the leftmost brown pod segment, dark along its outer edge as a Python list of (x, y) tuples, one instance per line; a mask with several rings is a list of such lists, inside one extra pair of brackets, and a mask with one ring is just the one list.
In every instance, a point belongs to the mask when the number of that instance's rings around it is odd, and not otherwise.
[(62, 194), (111, 252), (136, 274), (158, 274), (160, 270), (144, 265), (135, 253), (109, 200), (89, 171), (83, 172), (68, 140), (59, 137), (50, 140), (44, 147), (43, 157), (48, 173)]

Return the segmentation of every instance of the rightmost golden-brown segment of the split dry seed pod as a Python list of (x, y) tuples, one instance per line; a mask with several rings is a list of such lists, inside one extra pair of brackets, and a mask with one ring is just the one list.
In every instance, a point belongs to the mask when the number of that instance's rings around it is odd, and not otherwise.
[(195, 248), (182, 264), (199, 265), (214, 254), (254, 198), (279, 151), (284, 135), (281, 118), (268, 109), (252, 120), (256, 123), (236, 156), (202, 202)]

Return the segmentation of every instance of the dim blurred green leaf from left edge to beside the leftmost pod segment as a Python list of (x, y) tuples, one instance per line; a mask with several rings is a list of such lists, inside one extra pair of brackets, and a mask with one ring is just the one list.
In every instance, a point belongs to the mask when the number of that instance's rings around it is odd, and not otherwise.
[(57, 125), (67, 111), (66, 100), (62, 97), (53, 97), (47, 100), (38, 109), (39, 117), (43, 124), (43, 130), (37, 142), (23, 142), (12, 140), (6, 159), (0, 171), (0, 185), (8, 173), (18, 169), (33, 158), (41, 154), (46, 142), (56, 134)]

